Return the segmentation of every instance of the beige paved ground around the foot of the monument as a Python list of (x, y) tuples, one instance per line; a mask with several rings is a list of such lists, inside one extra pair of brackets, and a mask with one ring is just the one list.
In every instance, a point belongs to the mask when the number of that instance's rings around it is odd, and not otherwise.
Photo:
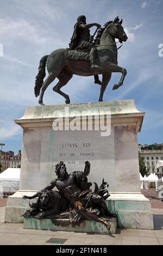
[(154, 230), (117, 229), (115, 235), (23, 229), (23, 223), (4, 223), (4, 211), (3, 206), (0, 245), (163, 245), (163, 208), (152, 209)]

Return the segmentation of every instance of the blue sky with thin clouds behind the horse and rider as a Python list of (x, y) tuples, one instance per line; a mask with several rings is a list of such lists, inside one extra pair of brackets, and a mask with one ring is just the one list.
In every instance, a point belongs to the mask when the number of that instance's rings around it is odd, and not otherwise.
[[(22, 117), (26, 106), (35, 106), (34, 83), (39, 61), (57, 48), (66, 48), (79, 15), (87, 23), (101, 25), (117, 15), (123, 18), (128, 41), (118, 51), (118, 64), (128, 74), (122, 87), (112, 91), (120, 78), (113, 74), (104, 100), (134, 99), (137, 109), (146, 112), (139, 143), (163, 143), (163, 44), (162, 0), (0, 0), (0, 143), (3, 150), (17, 153), (22, 145), (22, 129), (14, 119)], [(91, 28), (91, 34), (95, 32)], [(46, 90), (46, 105), (65, 103), (54, 93), (55, 80)], [(93, 77), (73, 76), (63, 91), (71, 102), (98, 100), (100, 87)]]

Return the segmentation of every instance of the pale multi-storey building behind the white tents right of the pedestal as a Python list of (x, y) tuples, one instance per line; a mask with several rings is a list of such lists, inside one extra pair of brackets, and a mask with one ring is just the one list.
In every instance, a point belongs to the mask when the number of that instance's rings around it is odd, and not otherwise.
[[(148, 170), (148, 173), (156, 173), (159, 174), (156, 169), (156, 163), (159, 160), (163, 160), (163, 143), (162, 144), (144, 144), (138, 145), (139, 151), (141, 151), (142, 156), (145, 157), (144, 162), (145, 166)], [(163, 168), (161, 168), (161, 173), (163, 173)]]

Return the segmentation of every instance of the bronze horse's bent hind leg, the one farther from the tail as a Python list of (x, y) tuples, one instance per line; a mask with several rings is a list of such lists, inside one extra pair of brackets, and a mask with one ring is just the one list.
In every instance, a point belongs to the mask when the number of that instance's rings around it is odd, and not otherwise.
[(60, 88), (65, 86), (68, 81), (72, 78), (71, 74), (62, 74), (61, 76), (57, 77), (59, 79), (59, 82), (56, 84), (56, 86), (53, 87), (54, 92), (59, 93), (60, 95), (64, 96), (66, 99), (66, 104), (70, 103), (70, 98), (67, 94), (61, 92)]

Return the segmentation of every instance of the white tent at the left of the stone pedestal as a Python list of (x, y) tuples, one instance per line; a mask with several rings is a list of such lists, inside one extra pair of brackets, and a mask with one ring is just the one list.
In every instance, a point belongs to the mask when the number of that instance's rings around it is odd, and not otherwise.
[(4, 187), (9, 191), (16, 191), (20, 181), (20, 168), (8, 168), (0, 174), (0, 191), (4, 191)]

